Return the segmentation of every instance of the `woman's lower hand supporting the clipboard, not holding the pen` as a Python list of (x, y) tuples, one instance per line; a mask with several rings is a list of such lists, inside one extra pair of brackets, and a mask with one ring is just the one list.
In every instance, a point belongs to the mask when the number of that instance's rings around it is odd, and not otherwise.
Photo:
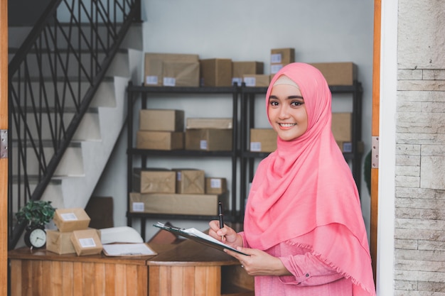
[(225, 253), (237, 258), (249, 275), (291, 275), (279, 258), (256, 248), (237, 247), (238, 251), (250, 256), (225, 249)]

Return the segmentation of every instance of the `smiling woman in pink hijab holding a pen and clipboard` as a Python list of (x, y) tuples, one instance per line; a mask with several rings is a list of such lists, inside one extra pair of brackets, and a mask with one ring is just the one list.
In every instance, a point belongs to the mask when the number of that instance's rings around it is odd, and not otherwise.
[(266, 95), (277, 150), (255, 172), (244, 231), (210, 221), (210, 236), (255, 276), (255, 295), (375, 295), (360, 199), (331, 131), (331, 92), (303, 63), (282, 68)]

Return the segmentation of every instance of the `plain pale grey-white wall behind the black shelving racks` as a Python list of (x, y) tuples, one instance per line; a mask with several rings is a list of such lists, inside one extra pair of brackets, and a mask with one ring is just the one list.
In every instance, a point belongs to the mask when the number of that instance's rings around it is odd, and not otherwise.
[[(370, 150), (374, 1), (146, 0), (142, 10), (145, 52), (257, 60), (264, 62), (264, 74), (269, 74), (272, 48), (295, 48), (299, 62), (355, 62), (364, 90), (363, 141), (365, 151)], [(201, 104), (193, 98), (188, 103), (176, 106), (185, 109), (186, 117), (215, 112), (212, 104)], [(333, 111), (351, 111), (350, 101), (334, 97)], [(258, 126), (263, 124), (267, 121)], [(126, 137), (124, 132), (95, 192), (114, 197), (116, 226), (127, 224)], [(165, 167), (169, 165), (166, 161)], [(110, 178), (111, 182), (106, 181)], [(369, 225), (370, 197), (363, 180), (360, 191), (365, 223)], [(201, 229), (207, 226), (207, 222), (178, 223)], [(149, 225), (147, 237), (155, 231)]]

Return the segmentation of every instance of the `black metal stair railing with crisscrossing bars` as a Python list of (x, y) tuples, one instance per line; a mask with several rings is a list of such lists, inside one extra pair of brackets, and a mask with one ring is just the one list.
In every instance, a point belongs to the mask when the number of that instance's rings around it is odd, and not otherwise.
[[(41, 199), (141, 0), (53, 0), (9, 62), (9, 248)], [(69, 116), (67, 114), (70, 114)]]

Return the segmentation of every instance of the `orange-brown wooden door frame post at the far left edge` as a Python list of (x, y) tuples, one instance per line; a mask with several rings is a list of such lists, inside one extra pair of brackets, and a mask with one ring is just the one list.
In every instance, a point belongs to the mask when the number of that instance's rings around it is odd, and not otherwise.
[[(8, 131), (8, 1), (7, 0), (0, 0), (0, 131)], [(7, 154), (6, 157), (0, 155), (0, 295), (8, 295)]]

